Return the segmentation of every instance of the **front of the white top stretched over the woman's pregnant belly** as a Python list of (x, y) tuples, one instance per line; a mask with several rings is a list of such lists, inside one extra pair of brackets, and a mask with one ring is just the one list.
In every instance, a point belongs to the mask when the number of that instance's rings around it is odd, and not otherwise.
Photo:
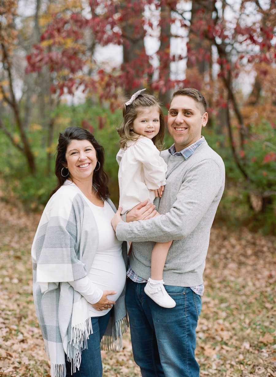
[[(116, 294), (107, 296), (110, 300), (116, 301), (125, 286), (126, 269), (122, 256), (122, 242), (117, 240), (111, 225), (114, 211), (107, 201), (104, 201), (104, 207), (98, 207), (91, 202), (88, 204), (98, 226), (99, 246), (87, 276), (103, 291), (116, 291)], [(91, 317), (104, 316), (111, 310), (98, 311), (90, 304), (89, 307)]]

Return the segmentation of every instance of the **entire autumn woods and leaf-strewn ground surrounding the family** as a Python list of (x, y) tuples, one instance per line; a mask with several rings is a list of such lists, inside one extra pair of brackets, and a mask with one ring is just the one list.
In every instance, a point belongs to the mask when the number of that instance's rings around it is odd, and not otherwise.
[[(226, 166), (198, 326), (202, 374), (276, 375), (275, 31), (275, 0), (0, 0), (0, 376), (49, 370), (29, 249), (56, 184), (59, 132), (84, 127), (104, 146), (117, 204), (120, 106), (144, 87), (165, 115), (174, 90), (199, 89), (203, 135)], [(103, 356), (104, 375), (139, 375), (126, 342), (123, 357)]]

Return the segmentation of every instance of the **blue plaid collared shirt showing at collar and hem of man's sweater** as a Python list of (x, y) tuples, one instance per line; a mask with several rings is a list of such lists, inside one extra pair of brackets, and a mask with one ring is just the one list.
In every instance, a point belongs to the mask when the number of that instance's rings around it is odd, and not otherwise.
[[(187, 160), (194, 153), (194, 151), (197, 149), (197, 147), (200, 146), (200, 144), (203, 143), (204, 140), (205, 140), (204, 136), (201, 136), (201, 138), (199, 140), (197, 140), (197, 141), (195, 141), (195, 143), (189, 145), (189, 147), (182, 149), (180, 152), (175, 151), (174, 144), (172, 144), (172, 146), (169, 147), (168, 150), (169, 150), (169, 153), (171, 153), (172, 156), (181, 156), (182, 155), (185, 158), (185, 160)], [(143, 279), (139, 275), (137, 275), (133, 271), (133, 269), (130, 267), (130, 265), (128, 266), (127, 276), (132, 281), (134, 281), (135, 283), (146, 283), (148, 281), (148, 280)], [(195, 285), (194, 287), (190, 287), (190, 288), (191, 288), (192, 291), (194, 291), (199, 296), (203, 296), (204, 283), (200, 284), (200, 285)]]

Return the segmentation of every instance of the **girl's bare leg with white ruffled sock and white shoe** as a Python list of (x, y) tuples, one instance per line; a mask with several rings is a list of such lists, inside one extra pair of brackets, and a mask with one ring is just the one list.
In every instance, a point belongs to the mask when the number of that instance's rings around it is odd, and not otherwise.
[(163, 270), (172, 241), (154, 245), (151, 253), (151, 277), (145, 286), (145, 293), (163, 308), (174, 308), (175, 301), (164, 288)]

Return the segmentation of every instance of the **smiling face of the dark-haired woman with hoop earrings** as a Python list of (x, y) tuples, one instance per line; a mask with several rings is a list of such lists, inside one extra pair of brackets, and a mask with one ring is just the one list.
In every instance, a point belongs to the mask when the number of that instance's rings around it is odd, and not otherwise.
[(67, 146), (64, 166), (71, 178), (78, 181), (92, 179), (97, 164), (96, 150), (88, 140), (72, 140)]

